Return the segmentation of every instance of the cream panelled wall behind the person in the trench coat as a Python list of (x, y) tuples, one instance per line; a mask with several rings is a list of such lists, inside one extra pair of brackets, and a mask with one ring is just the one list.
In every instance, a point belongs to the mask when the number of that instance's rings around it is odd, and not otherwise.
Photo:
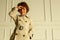
[(9, 40), (15, 27), (8, 13), (19, 2), (26, 1), (32, 19), (32, 40), (60, 40), (60, 0), (0, 0), (0, 40)]

